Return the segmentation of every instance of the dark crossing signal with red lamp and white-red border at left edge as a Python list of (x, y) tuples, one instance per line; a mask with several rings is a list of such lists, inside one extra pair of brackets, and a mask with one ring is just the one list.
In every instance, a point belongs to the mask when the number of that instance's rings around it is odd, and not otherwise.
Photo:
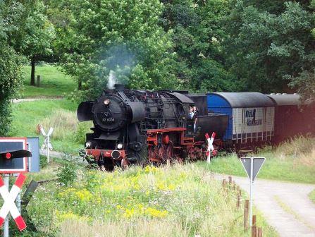
[(27, 172), (26, 144), (26, 138), (0, 138), (0, 173)]

